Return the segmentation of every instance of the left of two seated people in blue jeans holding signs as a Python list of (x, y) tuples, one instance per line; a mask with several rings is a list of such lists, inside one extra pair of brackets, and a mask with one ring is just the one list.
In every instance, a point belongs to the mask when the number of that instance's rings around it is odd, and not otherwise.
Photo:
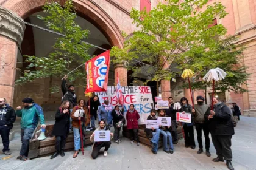
[[(155, 109), (151, 109), (151, 113), (148, 116), (147, 120), (157, 120), (157, 115), (155, 114)], [(151, 138), (150, 143), (152, 147), (153, 154), (157, 154), (158, 149), (158, 142), (159, 142), (159, 136), (160, 136), (160, 129), (154, 129), (152, 127), (151, 129), (145, 129), (145, 132), (148, 136), (148, 138)]]

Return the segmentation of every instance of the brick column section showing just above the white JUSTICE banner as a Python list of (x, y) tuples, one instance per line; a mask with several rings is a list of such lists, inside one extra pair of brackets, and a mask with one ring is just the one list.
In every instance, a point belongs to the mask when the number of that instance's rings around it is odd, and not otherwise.
[(117, 73), (120, 80), (121, 86), (127, 86), (127, 61), (123, 61), (121, 63), (115, 63), (115, 86), (117, 84)]

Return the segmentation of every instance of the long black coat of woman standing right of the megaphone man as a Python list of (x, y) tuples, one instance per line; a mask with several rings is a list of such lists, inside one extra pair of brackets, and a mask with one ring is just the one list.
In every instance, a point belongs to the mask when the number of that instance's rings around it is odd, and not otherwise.
[(69, 133), (70, 127), (70, 110), (63, 114), (63, 109), (59, 108), (55, 114), (55, 124), (52, 130), (54, 136), (65, 136)]

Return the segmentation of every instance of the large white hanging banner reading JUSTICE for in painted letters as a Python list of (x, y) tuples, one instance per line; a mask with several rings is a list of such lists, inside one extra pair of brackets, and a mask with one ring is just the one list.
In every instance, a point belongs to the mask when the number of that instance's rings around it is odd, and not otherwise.
[[(113, 107), (119, 104), (118, 98), (116, 97), (116, 86), (108, 86), (106, 92), (96, 92), (99, 97), (101, 104), (104, 104), (104, 100), (109, 100), (109, 104)], [(151, 89), (149, 86), (121, 86), (122, 101), (124, 107), (124, 115), (126, 115), (130, 104), (134, 104), (140, 119), (138, 124), (145, 124), (150, 110), (154, 107)], [(120, 108), (121, 109), (121, 108)], [(124, 116), (126, 117), (126, 116)]]

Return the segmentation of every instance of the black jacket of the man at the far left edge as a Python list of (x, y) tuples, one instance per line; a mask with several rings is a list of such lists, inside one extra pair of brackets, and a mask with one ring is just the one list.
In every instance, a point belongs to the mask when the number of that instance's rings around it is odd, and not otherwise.
[[(0, 114), (0, 126), (7, 125), (9, 129), (12, 129), (13, 123), (16, 120), (16, 112), (11, 106), (9, 106), (9, 104), (5, 104), (5, 106), (6, 107), (1, 110), (2, 115)], [(2, 121), (3, 124), (1, 124), (2, 118), (4, 118), (4, 121)]]

